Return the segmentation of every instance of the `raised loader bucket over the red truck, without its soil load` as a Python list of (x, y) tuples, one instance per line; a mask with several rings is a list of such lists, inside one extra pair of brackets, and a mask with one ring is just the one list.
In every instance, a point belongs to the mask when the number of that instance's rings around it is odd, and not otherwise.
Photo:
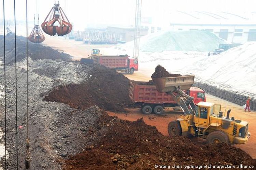
[(175, 87), (181, 90), (189, 90), (194, 84), (195, 75), (184, 75), (179, 77), (153, 78), (158, 92), (172, 92)]

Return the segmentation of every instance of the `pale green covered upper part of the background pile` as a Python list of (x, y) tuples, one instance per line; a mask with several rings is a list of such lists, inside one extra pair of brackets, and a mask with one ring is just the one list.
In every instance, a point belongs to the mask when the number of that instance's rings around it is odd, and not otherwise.
[[(214, 51), (226, 41), (207, 31), (165, 31), (149, 34), (140, 38), (140, 51)], [(121, 49), (133, 49), (133, 41)]]

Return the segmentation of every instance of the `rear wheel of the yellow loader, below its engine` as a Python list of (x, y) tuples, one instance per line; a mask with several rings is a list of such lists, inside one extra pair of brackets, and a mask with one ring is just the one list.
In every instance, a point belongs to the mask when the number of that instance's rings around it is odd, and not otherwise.
[(228, 135), (225, 134), (224, 132), (213, 131), (207, 136), (206, 142), (208, 144), (217, 145), (218, 143), (229, 143), (229, 140), (228, 140)]

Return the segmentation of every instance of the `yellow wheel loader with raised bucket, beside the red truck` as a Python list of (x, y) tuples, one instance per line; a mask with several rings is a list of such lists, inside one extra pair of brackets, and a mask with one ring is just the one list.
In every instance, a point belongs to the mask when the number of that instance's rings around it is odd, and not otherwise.
[(159, 92), (172, 95), (180, 105), (184, 115), (169, 123), (168, 133), (172, 136), (187, 136), (191, 134), (198, 141), (207, 143), (244, 144), (250, 138), (248, 122), (223, 116), (221, 105), (210, 102), (193, 102), (193, 97), (184, 91), (194, 84), (194, 75), (170, 78), (153, 78)]

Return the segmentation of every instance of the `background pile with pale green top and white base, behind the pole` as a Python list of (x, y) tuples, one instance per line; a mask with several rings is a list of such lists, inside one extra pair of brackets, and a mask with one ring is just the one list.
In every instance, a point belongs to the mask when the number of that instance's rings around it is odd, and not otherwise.
[[(207, 55), (209, 51), (214, 51), (219, 44), (225, 43), (227, 43), (225, 40), (206, 31), (158, 32), (140, 38), (139, 62), (149, 63), (200, 57)], [(128, 54), (132, 56), (133, 45), (134, 41), (130, 41), (114, 48), (100, 48), (100, 50), (103, 55)]]

